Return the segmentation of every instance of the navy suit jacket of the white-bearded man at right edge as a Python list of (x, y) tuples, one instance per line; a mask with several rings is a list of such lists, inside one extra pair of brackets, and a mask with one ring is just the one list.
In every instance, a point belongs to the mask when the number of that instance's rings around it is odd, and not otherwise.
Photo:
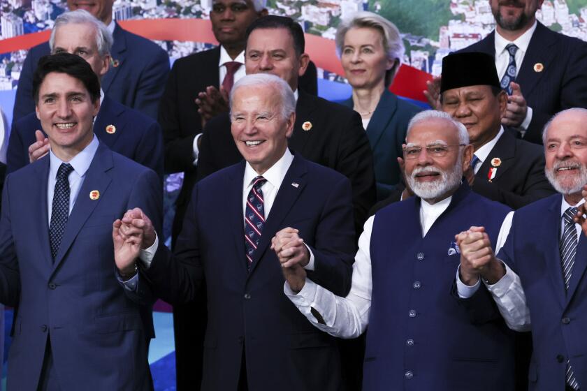
[(569, 358), (581, 389), (587, 386), (587, 237), (579, 235), (566, 290), (559, 251), (561, 202), (556, 194), (517, 210), (498, 254), (519, 274), (530, 309), (532, 391), (565, 390)]

